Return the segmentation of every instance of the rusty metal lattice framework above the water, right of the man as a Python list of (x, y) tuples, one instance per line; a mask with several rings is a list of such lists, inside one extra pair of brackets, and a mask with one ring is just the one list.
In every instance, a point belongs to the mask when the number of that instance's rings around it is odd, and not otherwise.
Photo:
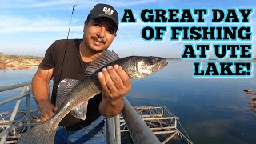
[[(157, 136), (157, 138), (162, 143), (188, 143), (193, 144), (189, 135), (184, 130), (179, 118), (167, 110), (166, 106), (133, 106), (133, 110), (142, 118), (142, 121), (146, 123), (150, 131)], [(120, 116), (120, 127), (121, 133), (126, 135), (130, 133), (131, 129), (140, 128), (137, 126), (138, 121), (133, 121), (136, 118), (133, 118), (135, 114), (127, 115), (122, 112)], [(129, 117), (128, 117), (129, 116)], [(131, 120), (127, 118), (130, 118)], [(133, 137), (133, 134), (130, 134)], [(135, 134), (134, 137), (139, 136)], [(177, 140), (177, 138), (179, 140)], [(124, 138), (122, 138), (124, 139)], [(132, 138), (134, 140), (134, 138)], [(137, 141), (135, 141), (137, 142)], [(144, 143), (144, 142), (142, 142)]]

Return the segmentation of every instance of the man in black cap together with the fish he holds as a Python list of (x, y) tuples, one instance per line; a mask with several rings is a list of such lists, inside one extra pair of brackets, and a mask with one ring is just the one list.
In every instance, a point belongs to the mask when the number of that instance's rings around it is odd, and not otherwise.
[(104, 116), (120, 113), (130, 78), (145, 78), (168, 64), (160, 57), (118, 58), (106, 50), (117, 30), (117, 11), (98, 4), (87, 17), (83, 39), (58, 40), (46, 50), (32, 81), (42, 122), (23, 133), (18, 144), (106, 143)]

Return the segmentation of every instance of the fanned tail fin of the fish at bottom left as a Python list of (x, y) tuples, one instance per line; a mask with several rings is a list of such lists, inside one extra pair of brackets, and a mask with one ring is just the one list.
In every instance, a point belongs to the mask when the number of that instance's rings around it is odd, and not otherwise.
[(42, 122), (23, 133), (18, 138), (18, 144), (53, 144), (57, 126), (53, 126), (50, 120)]

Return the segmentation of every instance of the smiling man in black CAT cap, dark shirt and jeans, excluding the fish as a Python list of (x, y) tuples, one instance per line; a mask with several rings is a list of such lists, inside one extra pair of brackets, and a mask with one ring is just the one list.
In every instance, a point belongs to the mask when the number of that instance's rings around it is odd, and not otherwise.
[[(56, 94), (62, 79), (82, 80), (86, 78), (86, 67), (104, 54), (118, 30), (118, 12), (110, 5), (97, 4), (90, 11), (84, 23), (83, 39), (58, 40), (46, 50), (45, 58), (39, 65), (32, 80), (34, 98), (41, 112), (41, 120), (46, 121), (58, 110)], [(49, 82), (54, 78), (54, 86), (49, 98)], [(98, 73), (102, 94), (88, 102), (85, 120), (67, 114), (62, 119), (54, 143), (105, 143), (103, 118), (120, 113), (122, 98), (130, 91), (130, 78), (122, 67), (108, 66)], [(102, 116), (101, 116), (102, 115)]]

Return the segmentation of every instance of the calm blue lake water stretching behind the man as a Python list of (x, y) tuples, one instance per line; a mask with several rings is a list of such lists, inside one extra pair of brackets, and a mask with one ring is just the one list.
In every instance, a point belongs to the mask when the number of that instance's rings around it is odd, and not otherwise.
[[(30, 81), (35, 70), (0, 70), (0, 86)], [(256, 91), (255, 76), (193, 78), (192, 73), (192, 62), (170, 61), (157, 74), (133, 81), (127, 98), (133, 106), (166, 106), (194, 143), (256, 143), (256, 114), (243, 92)], [(10, 93), (0, 96), (9, 98)]]

